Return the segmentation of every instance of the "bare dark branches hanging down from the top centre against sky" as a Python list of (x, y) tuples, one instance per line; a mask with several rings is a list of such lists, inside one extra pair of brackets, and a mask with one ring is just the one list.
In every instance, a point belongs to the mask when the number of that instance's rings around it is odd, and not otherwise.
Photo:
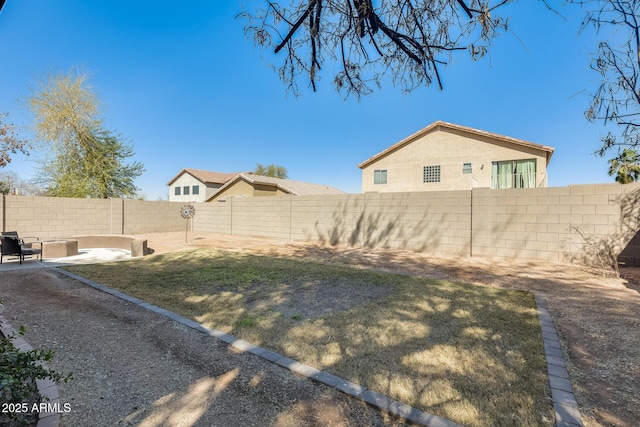
[(283, 52), (279, 74), (290, 91), (299, 93), (300, 75), (315, 91), (321, 68), (337, 62), (336, 90), (359, 98), (387, 77), (404, 91), (433, 81), (442, 89), (440, 67), (455, 51), (482, 57), (508, 28), (497, 9), (512, 1), (266, 0), (239, 17), (256, 45)]

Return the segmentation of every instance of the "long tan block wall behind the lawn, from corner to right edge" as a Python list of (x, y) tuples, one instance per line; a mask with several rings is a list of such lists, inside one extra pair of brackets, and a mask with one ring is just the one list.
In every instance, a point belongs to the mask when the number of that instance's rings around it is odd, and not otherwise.
[(200, 216), (197, 229), (442, 256), (606, 264), (607, 252), (631, 253), (640, 229), (640, 184), (234, 198), (222, 205), (228, 225)]

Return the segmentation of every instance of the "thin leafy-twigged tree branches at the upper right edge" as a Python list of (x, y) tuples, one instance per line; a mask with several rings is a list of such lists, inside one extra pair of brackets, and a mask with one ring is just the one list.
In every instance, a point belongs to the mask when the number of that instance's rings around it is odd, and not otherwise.
[(603, 40), (591, 67), (601, 83), (585, 112), (589, 121), (617, 128), (602, 139), (601, 156), (611, 148), (640, 145), (640, 1), (571, 0), (586, 9), (583, 30), (595, 28)]

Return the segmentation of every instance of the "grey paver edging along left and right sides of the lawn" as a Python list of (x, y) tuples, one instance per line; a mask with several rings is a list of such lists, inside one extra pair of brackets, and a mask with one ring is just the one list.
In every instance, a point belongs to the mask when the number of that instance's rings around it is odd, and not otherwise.
[[(456, 424), (453, 421), (447, 420), (437, 415), (433, 415), (428, 412), (422, 412), (417, 408), (413, 408), (405, 403), (393, 400), (389, 396), (380, 394), (373, 390), (369, 390), (359, 384), (352, 383), (351, 381), (347, 381), (328, 372), (320, 371), (314, 367), (302, 364), (296, 360), (283, 356), (274, 351), (253, 345), (247, 341), (234, 337), (233, 335), (229, 335), (217, 329), (208, 328), (194, 320), (188, 319), (177, 313), (132, 297), (115, 289), (109, 288), (108, 286), (94, 282), (85, 277), (57, 267), (55, 268), (55, 270), (71, 279), (84, 283), (87, 286), (136, 304), (146, 310), (166, 316), (178, 323), (183, 324), (184, 326), (193, 328), (209, 336), (218, 338), (236, 349), (254, 354), (268, 362), (275, 363), (302, 377), (334, 388), (355, 399), (361, 400), (369, 406), (374, 407), (380, 411), (388, 412), (392, 415), (402, 417), (411, 424), (425, 427), (464, 427), (463, 425)], [(556, 427), (583, 427), (582, 419), (580, 417), (580, 411), (573, 394), (571, 382), (569, 381), (569, 373), (567, 371), (564, 356), (562, 354), (562, 349), (560, 347), (560, 341), (558, 339), (556, 327), (553, 322), (553, 318), (549, 313), (547, 301), (544, 297), (535, 292), (534, 295), (538, 318), (540, 321), (540, 327), (542, 329), (542, 340), (544, 345), (545, 358), (547, 360), (549, 385), (551, 388), (551, 397), (553, 400), (553, 408), (556, 419), (555, 425)], [(38, 425), (38, 427), (40, 426)]]

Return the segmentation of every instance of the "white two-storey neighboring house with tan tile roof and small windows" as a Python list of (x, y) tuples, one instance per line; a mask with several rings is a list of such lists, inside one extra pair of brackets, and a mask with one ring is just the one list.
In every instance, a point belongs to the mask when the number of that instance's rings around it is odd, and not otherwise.
[(209, 172), (198, 169), (182, 169), (167, 183), (170, 202), (203, 202), (236, 173)]

